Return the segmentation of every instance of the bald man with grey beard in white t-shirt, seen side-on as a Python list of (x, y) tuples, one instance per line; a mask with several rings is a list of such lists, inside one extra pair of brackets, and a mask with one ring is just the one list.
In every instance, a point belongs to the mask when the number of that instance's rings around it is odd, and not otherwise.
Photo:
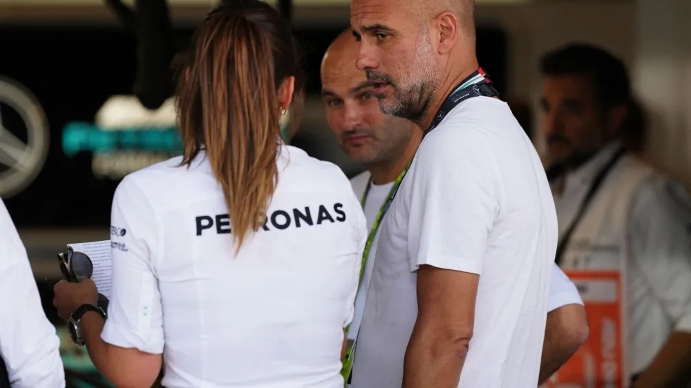
[(350, 10), (380, 110), (426, 130), (388, 196), (352, 387), (536, 387), (556, 211), (530, 139), (477, 64), (473, 3)]

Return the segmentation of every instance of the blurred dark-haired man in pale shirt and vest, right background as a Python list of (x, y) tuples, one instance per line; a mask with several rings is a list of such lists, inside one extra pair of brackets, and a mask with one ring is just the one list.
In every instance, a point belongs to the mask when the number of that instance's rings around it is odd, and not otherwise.
[[(585, 285), (603, 276), (621, 283), (624, 297), (612, 298), (611, 308), (623, 316), (627, 333), (626, 346), (616, 349), (625, 349), (630, 376), (623, 379), (634, 378), (635, 388), (686, 387), (691, 382), (688, 193), (629, 151), (640, 151), (644, 116), (637, 106), (632, 114), (630, 79), (620, 59), (595, 46), (570, 44), (545, 55), (541, 70), (542, 129), (560, 232), (556, 261)], [(590, 298), (607, 296), (589, 288), (583, 295), (586, 307)], [(610, 318), (589, 312), (591, 332)]]

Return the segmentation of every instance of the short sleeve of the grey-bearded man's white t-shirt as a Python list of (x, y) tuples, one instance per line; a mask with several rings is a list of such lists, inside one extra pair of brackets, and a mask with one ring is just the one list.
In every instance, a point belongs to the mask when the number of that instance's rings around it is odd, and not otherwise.
[(410, 166), (404, 198), (411, 270), (428, 264), (479, 275), (502, 190), (487, 145), (495, 140), (473, 128), (444, 129), (425, 139)]

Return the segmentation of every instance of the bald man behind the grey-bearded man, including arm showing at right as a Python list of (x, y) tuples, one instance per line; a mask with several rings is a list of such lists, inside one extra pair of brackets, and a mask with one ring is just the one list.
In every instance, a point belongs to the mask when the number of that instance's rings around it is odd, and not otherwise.
[[(322, 95), (330, 128), (343, 151), (367, 171), (352, 178), (372, 231), (366, 251), (365, 270), (355, 299), (355, 313), (348, 339), (354, 340), (360, 327), (379, 232), (380, 211), (397, 177), (413, 159), (422, 130), (413, 122), (379, 111), (372, 85), (365, 72), (354, 66), (358, 43), (346, 30), (327, 50), (321, 67)], [(542, 353), (540, 381), (565, 362), (588, 335), (583, 302), (574, 284), (554, 265), (551, 278), (547, 329)]]

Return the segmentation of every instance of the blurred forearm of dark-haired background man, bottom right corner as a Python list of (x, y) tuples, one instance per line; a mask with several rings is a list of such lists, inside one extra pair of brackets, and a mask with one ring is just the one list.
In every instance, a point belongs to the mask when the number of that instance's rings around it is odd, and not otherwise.
[(654, 358), (633, 388), (676, 388), (691, 383), (691, 333), (677, 331)]

